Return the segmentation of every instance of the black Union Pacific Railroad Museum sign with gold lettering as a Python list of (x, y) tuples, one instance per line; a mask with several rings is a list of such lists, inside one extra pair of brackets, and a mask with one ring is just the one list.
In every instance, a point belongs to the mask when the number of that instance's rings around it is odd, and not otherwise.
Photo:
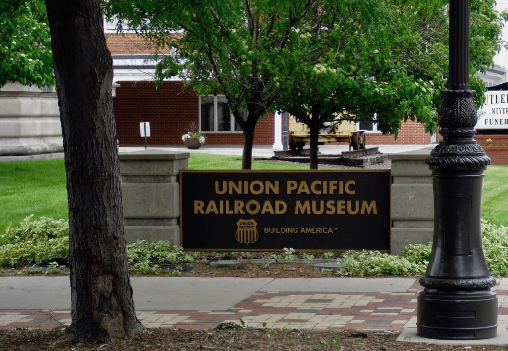
[(185, 250), (390, 250), (389, 170), (180, 171)]

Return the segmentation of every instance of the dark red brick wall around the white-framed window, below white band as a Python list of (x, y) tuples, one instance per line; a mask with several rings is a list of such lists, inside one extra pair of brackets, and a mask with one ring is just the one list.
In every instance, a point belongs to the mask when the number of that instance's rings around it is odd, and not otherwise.
[[(167, 81), (155, 89), (153, 81), (119, 81), (113, 99), (120, 145), (141, 145), (140, 122), (150, 122), (150, 145), (180, 145), (181, 136), (192, 122), (198, 122), (200, 97), (182, 82)], [(213, 99), (213, 97), (211, 97)], [(273, 114), (261, 118), (254, 143), (271, 145)], [(243, 144), (241, 131), (206, 131), (206, 143)]]

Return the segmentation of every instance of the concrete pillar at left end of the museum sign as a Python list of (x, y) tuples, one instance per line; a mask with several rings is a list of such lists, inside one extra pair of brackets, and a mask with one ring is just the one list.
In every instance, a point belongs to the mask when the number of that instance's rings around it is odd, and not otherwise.
[(188, 152), (148, 149), (119, 154), (125, 239), (180, 245), (180, 169)]

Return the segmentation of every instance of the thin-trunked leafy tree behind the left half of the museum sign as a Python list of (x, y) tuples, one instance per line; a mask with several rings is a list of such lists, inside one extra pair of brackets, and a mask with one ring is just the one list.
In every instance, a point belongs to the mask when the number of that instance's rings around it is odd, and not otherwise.
[(159, 80), (177, 75), (200, 94), (226, 96), (244, 134), (242, 168), (250, 169), (254, 129), (285, 75), (282, 50), (292, 28), (311, 21), (317, 7), (310, 0), (119, 0), (106, 12), (120, 28), (138, 28), (158, 52), (178, 52), (157, 65)]

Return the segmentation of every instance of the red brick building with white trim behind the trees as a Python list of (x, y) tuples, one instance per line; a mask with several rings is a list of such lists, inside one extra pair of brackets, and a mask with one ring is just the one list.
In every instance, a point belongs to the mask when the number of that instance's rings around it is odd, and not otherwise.
[[(209, 145), (243, 144), (242, 132), (225, 113), (224, 97), (200, 97), (192, 89), (185, 90), (179, 80), (167, 80), (156, 89), (154, 65), (145, 61), (150, 54), (146, 42), (134, 33), (117, 34), (112, 24), (106, 24), (105, 31), (117, 84), (113, 102), (120, 145), (144, 144), (140, 122), (150, 122), (150, 145), (181, 145), (181, 136), (191, 122), (200, 123)], [(258, 121), (254, 143), (281, 149), (281, 125), (279, 114), (267, 113)], [(377, 131), (376, 124), (358, 128), (368, 130), (368, 145), (435, 142), (423, 125), (411, 121), (403, 123), (397, 139)]]

